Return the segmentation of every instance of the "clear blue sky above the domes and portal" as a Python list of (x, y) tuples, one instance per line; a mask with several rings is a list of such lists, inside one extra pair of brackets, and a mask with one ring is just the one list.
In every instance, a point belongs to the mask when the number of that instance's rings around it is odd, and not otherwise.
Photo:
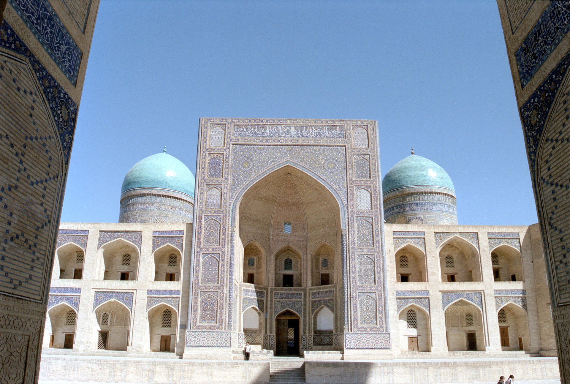
[(382, 176), (414, 147), (459, 224), (537, 221), (492, 1), (102, 0), (62, 221), (116, 222), (164, 145), (194, 172), (201, 117), (378, 120)]

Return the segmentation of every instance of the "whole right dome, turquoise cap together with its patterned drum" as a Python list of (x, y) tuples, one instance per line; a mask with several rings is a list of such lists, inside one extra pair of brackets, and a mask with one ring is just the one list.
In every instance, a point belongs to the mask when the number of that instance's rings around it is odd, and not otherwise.
[(457, 224), (453, 182), (425, 157), (398, 161), (384, 176), (382, 191), (386, 223)]

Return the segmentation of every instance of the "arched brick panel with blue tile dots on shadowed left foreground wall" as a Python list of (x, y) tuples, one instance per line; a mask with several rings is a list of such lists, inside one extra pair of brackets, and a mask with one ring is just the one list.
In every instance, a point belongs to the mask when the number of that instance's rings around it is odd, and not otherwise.
[[(3, 22), (3, 27), (6, 22)], [(6, 29), (0, 41), (6, 42)], [(15, 41), (15, 40), (14, 40)], [(41, 300), (46, 247), (65, 178), (58, 136), (26, 64), (0, 54), (0, 290)]]

